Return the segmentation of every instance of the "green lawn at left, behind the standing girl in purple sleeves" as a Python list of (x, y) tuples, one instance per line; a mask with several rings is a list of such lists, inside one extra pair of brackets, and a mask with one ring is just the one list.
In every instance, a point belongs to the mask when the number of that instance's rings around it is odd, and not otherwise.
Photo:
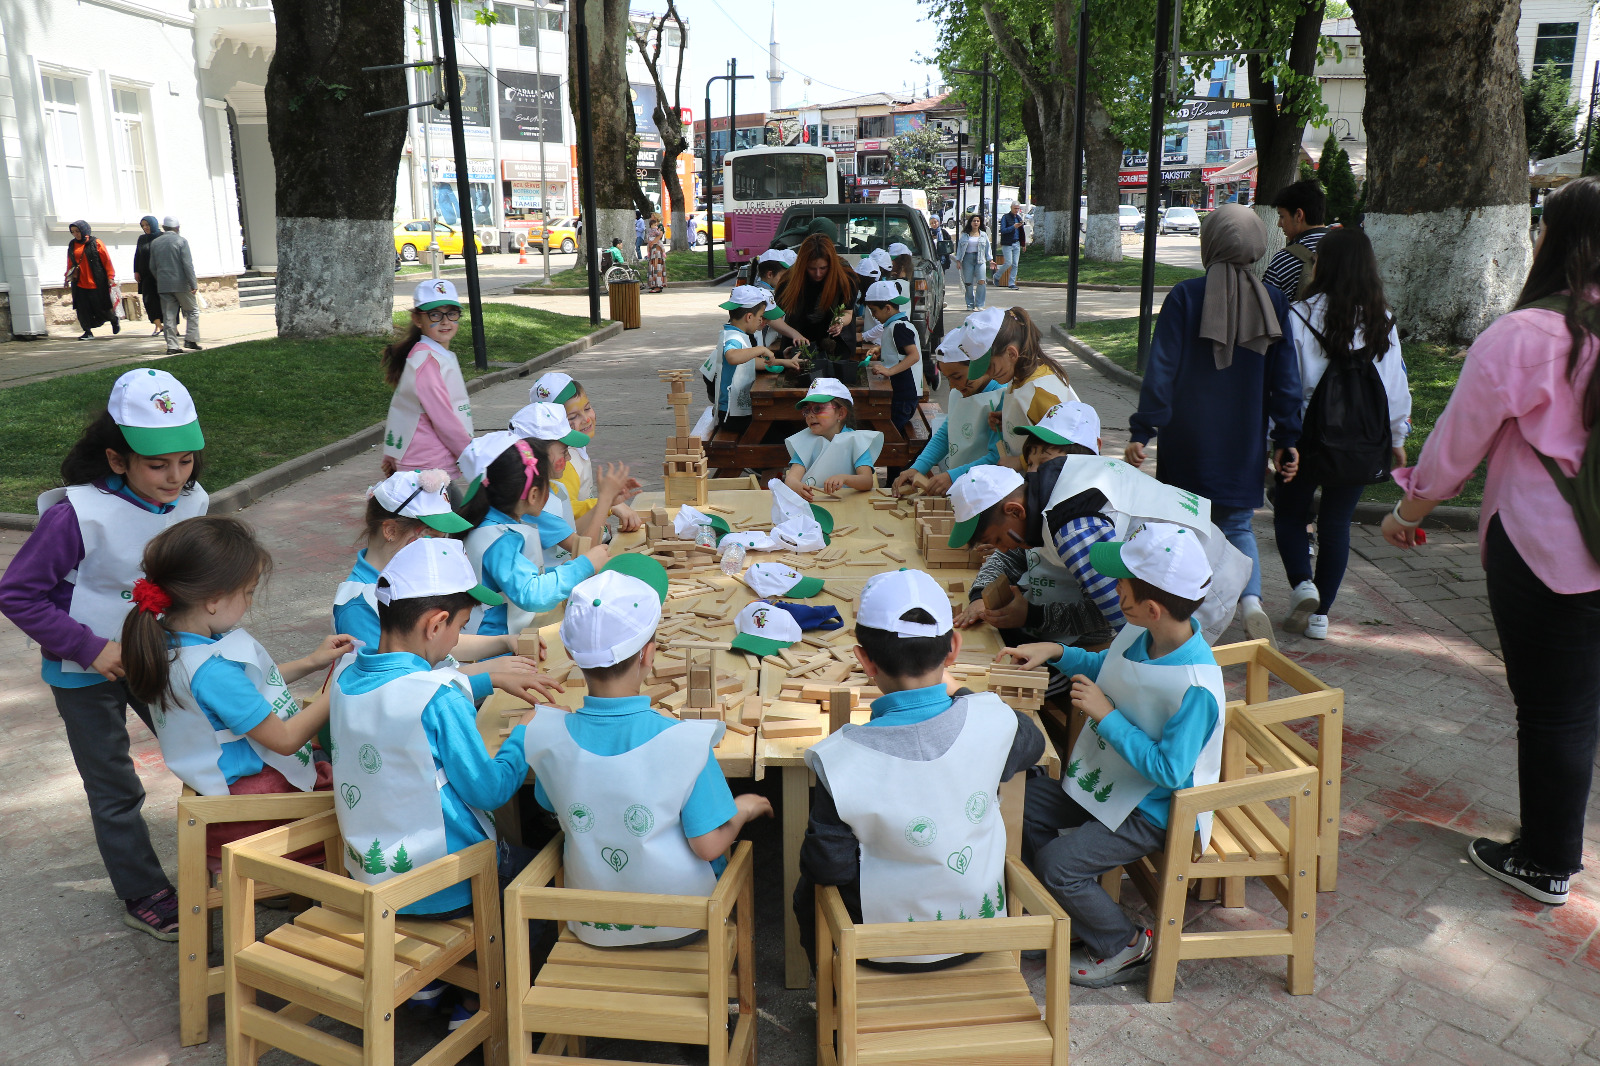
[[(405, 322), (395, 315), (395, 325)], [(533, 307), (483, 309), (488, 354), (523, 362), (590, 331), (587, 319)], [(454, 344), (461, 371), (472, 379), (470, 319)], [(371, 338), (243, 341), (160, 362), (195, 397), (206, 434), (203, 483), (226, 488), (358, 429), (381, 423), (390, 389), (378, 368), (381, 344)], [(58, 483), (61, 458), (85, 423), (106, 407), (112, 383), (128, 367), (53, 378), (3, 392), (0, 419), (0, 511), (34, 512), (35, 496)]]

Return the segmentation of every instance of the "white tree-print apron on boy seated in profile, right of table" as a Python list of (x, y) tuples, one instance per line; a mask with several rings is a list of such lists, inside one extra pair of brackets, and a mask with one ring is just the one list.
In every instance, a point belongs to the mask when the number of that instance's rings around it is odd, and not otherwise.
[[(1222, 688), (1222, 667), (1216, 663), (1202, 666), (1155, 666), (1131, 663), (1123, 651), (1146, 634), (1138, 626), (1123, 626), (1106, 651), (1094, 683), (1101, 687), (1112, 706), (1125, 719), (1138, 725), (1150, 739), (1160, 739), (1168, 719), (1178, 714), (1184, 693), (1198, 685), (1216, 699), (1218, 722), (1195, 760), (1194, 783), (1216, 784), (1222, 776), (1222, 719), (1227, 711), (1227, 693)], [(1114, 831), (1122, 826), (1134, 807), (1155, 786), (1146, 781), (1117, 749), (1101, 739), (1098, 723), (1078, 733), (1072, 746), (1072, 759), (1061, 773), (1061, 787), (1085, 810)], [(1211, 813), (1200, 815), (1200, 847), (1211, 839)]]

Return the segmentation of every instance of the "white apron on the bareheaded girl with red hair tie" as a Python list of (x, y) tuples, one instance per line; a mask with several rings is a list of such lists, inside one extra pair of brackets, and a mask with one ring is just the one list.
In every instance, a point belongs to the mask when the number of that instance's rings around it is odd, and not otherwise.
[(285, 722), (299, 714), (299, 701), (283, 683), (277, 663), (243, 629), (235, 629), (214, 643), (178, 648), (178, 658), (171, 667), (173, 699), (150, 707), (155, 738), (162, 741), (162, 759), (166, 762), (166, 768), (200, 795), (227, 795), (227, 778), (222, 776), (222, 768), (218, 765), (222, 759), (222, 744), (242, 739), (261, 755), (261, 762), (288, 778), (288, 783), (301, 792), (309, 792), (317, 784), (317, 768), (310, 760), (309, 743), (293, 755), (280, 755), (250, 736), (238, 736), (232, 730), (211, 725), (211, 719), (195, 703), (189, 688), (195, 671), (211, 656), (222, 656), (243, 666), (250, 683), (272, 706), (272, 714)]

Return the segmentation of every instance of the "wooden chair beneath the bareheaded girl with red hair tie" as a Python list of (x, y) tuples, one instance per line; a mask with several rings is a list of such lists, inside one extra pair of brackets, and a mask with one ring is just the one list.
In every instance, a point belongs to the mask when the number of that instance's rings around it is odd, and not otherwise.
[[(210, 826), (242, 821), (294, 821), (333, 810), (333, 792), (197, 795), (178, 799), (178, 1039), (184, 1047), (211, 1039), (210, 1000), (222, 994), (222, 967), (206, 965), (211, 911), (222, 906), (221, 860), (205, 853)], [(256, 898), (282, 895), (258, 888)]]

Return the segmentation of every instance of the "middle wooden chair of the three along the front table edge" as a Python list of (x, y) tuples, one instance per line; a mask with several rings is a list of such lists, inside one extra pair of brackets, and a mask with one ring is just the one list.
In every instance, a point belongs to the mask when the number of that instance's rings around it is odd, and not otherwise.
[[(506, 992), (512, 1066), (570, 1063), (584, 1037), (702, 1044), (710, 1066), (755, 1063), (755, 882), (752, 845), (733, 860), (710, 896), (656, 896), (562, 887), (557, 834), (506, 888)], [(562, 922), (550, 957), (530, 980), (528, 922)], [(566, 922), (702, 928), (683, 948), (590, 948)], [(728, 1000), (739, 1000), (728, 1032)], [(542, 1032), (538, 1048), (533, 1034)], [(589, 1066), (621, 1066), (584, 1058)]]

